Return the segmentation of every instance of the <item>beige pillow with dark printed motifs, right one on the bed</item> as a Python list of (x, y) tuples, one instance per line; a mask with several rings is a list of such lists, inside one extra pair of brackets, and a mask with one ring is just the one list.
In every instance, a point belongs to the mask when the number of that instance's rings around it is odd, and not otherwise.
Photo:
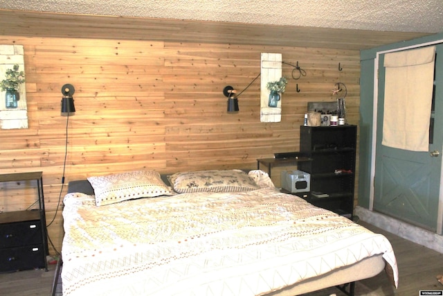
[(233, 192), (259, 189), (251, 177), (239, 170), (175, 173), (168, 180), (178, 193)]

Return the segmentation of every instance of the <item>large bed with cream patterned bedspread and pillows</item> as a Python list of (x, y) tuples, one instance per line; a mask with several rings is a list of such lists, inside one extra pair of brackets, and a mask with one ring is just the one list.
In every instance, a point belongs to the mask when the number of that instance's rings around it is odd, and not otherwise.
[(387, 238), (258, 170), (88, 177), (63, 218), (63, 295), (300, 295), (383, 269), (398, 284)]

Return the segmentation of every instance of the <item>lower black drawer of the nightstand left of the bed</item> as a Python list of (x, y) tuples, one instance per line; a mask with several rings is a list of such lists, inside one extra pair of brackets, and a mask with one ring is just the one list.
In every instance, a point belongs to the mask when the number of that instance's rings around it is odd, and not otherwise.
[(0, 272), (44, 268), (43, 244), (0, 250)]

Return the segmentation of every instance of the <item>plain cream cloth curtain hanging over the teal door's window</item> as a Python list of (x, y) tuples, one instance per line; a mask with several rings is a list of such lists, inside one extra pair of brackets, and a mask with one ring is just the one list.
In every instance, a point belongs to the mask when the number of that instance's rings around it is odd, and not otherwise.
[(434, 62), (435, 46), (385, 55), (384, 146), (428, 151)]

